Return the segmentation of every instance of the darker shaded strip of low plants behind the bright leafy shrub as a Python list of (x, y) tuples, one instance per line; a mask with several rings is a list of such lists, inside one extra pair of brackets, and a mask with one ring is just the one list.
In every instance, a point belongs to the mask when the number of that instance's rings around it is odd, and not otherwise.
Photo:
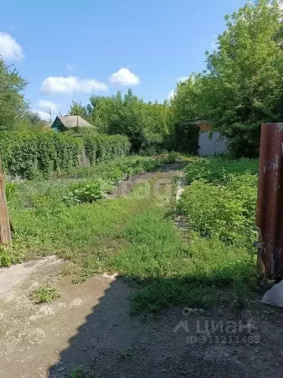
[(258, 159), (194, 158), (185, 168), (188, 184), (194, 180), (223, 184), (230, 174), (241, 175), (248, 172), (252, 175), (258, 173)]

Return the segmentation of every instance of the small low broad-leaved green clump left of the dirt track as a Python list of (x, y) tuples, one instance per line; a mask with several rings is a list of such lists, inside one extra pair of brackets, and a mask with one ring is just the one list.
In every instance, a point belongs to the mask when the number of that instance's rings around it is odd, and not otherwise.
[(93, 179), (87, 182), (74, 184), (70, 191), (63, 196), (63, 200), (68, 205), (79, 204), (83, 202), (93, 202), (105, 198), (111, 185), (102, 179)]

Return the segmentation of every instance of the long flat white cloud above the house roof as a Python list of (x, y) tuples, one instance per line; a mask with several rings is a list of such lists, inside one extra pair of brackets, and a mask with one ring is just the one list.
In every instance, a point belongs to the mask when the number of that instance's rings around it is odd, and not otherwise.
[(55, 93), (70, 95), (74, 92), (90, 93), (107, 91), (107, 85), (95, 79), (80, 79), (75, 76), (49, 76), (40, 86), (40, 92), (45, 95)]

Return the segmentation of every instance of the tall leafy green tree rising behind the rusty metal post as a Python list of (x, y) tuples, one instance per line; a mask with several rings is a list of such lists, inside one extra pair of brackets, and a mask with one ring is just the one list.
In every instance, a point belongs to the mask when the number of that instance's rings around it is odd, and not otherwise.
[(279, 1), (258, 0), (226, 16), (207, 70), (178, 83), (171, 101), (176, 120), (209, 120), (235, 157), (258, 156), (260, 124), (283, 117), (282, 14)]

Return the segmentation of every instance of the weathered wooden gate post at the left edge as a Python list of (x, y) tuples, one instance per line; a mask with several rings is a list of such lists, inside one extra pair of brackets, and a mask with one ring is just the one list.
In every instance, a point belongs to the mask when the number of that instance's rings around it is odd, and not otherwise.
[(0, 245), (9, 245), (11, 241), (11, 228), (5, 194), (4, 174), (0, 159)]

